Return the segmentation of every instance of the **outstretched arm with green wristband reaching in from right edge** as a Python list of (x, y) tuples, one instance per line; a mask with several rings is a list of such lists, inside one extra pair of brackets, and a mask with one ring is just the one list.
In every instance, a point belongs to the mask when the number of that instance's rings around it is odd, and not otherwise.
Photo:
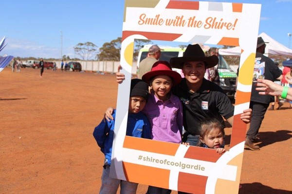
[(271, 95), (282, 97), (283, 99), (292, 101), (292, 88), (288, 86), (281, 86), (270, 80), (257, 79), (256, 91), (260, 95)]

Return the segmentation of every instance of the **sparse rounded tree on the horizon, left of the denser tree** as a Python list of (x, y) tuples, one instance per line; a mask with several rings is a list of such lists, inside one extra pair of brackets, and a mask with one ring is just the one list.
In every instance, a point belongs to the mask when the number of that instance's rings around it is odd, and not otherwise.
[(74, 51), (81, 57), (82, 60), (88, 61), (91, 57), (95, 56), (97, 52), (97, 46), (91, 42), (78, 43), (74, 47)]

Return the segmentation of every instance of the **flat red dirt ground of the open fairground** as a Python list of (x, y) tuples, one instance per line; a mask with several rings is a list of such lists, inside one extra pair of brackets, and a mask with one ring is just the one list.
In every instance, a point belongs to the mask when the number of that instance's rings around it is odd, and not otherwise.
[[(40, 78), (36, 69), (5, 68), (0, 84), (0, 193), (98, 193), (104, 156), (92, 132), (116, 105), (115, 75), (45, 69)], [(261, 149), (244, 151), (239, 194), (292, 194), (288, 107), (267, 111)], [(139, 185), (137, 194), (146, 189)]]

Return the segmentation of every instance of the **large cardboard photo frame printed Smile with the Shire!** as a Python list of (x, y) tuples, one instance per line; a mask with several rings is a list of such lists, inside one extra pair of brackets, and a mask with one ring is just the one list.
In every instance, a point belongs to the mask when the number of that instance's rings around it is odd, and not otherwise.
[[(237, 194), (249, 108), (260, 4), (125, 0), (121, 73), (110, 177), (196, 194)], [(135, 39), (240, 46), (230, 150), (183, 146), (126, 136)], [(244, 76), (244, 77), (243, 77)]]

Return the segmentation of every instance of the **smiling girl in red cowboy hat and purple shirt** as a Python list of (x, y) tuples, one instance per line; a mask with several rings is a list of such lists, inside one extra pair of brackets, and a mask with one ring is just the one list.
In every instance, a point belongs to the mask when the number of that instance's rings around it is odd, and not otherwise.
[[(151, 94), (143, 113), (148, 117), (151, 139), (182, 143), (183, 107), (179, 97), (171, 93), (171, 88), (179, 84), (182, 77), (173, 71), (166, 61), (153, 64), (151, 71), (142, 80), (150, 86)], [(170, 194), (171, 190), (149, 186), (147, 194)]]

